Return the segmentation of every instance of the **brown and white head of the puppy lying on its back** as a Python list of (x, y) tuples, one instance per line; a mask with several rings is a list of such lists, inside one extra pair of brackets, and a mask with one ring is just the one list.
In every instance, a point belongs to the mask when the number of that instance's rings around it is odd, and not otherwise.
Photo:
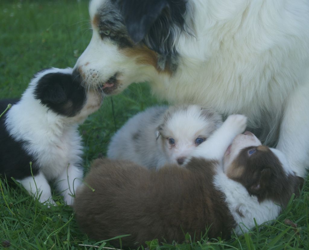
[(269, 199), (286, 206), (303, 186), (304, 179), (295, 175), (283, 153), (261, 145), (248, 131), (235, 137), (223, 163), (226, 175), (243, 184), (260, 202)]

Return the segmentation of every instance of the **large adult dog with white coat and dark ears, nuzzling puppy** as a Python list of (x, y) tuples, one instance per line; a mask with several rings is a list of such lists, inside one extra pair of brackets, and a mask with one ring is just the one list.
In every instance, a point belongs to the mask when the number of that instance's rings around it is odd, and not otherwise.
[(149, 81), (170, 103), (242, 113), (305, 175), (309, 162), (309, 2), (92, 0), (81, 81), (116, 94)]

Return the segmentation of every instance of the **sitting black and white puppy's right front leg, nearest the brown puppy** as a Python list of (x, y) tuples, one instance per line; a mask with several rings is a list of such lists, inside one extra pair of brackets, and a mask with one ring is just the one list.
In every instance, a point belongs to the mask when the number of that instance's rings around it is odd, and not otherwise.
[(69, 165), (56, 179), (57, 190), (63, 196), (63, 200), (68, 205), (72, 205), (76, 189), (80, 186), (83, 179), (81, 167)]

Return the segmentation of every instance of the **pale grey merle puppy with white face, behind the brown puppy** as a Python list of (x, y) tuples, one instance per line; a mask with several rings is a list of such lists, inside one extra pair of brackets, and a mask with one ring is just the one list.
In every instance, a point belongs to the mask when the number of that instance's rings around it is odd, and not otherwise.
[(182, 165), (221, 124), (218, 113), (198, 105), (148, 108), (115, 133), (107, 156), (155, 169), (166, 163)]

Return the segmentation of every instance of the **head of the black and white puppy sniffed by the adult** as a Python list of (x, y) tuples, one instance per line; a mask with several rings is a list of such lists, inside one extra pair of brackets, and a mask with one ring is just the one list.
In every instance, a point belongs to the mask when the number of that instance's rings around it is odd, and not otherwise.
[(102, 93), (82, 86), (71, 68), (42, 70), (30, 86), (32, 95), (42, 105), (58, 115), (72, 117), (74, 121), (83, 120), (102, 102)]

